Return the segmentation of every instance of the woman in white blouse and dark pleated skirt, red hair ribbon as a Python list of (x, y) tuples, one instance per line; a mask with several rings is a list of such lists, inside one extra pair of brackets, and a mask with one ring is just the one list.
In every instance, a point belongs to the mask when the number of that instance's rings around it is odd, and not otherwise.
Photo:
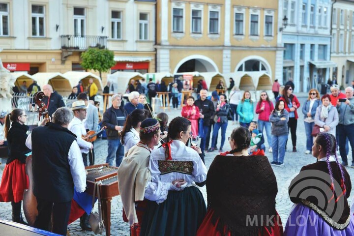
[(174, 118), (168, 127), (170, 141), (151, 152), (149, 169), (153, 182), (184, 179), (186, 183), (181, 191), (169, 191), (162, 203), (148, 201), (141, 236), (194, 236), (203, 221), (206, 204), (196, 185), (205, 184), (207, 168), (201, 149), (185, 145), (190, 133), (188, 119)]

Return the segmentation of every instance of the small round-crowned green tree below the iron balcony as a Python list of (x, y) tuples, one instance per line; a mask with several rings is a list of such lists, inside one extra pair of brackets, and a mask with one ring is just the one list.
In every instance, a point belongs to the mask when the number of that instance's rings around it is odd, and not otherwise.
[(101, 73), (108, 72), (112, 66), (116, 65), (114, 53), (108, 49), (89, 48), (81, 54), (81, 66), (86, 70), (98, 71), (102, 80)]

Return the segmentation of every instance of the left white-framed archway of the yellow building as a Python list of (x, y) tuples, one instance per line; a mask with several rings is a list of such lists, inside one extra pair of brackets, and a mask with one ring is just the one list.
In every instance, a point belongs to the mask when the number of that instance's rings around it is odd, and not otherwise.
[(219, 69), (212, 59), (202, 55), (191, 55), (178, 62), (174, 74), (192, 71), (218, 72)]

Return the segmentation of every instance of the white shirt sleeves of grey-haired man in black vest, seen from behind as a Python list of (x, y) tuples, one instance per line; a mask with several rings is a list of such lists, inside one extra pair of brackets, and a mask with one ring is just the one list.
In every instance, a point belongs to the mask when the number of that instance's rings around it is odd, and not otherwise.
[[(26, 139), (26, 146), (32, 149), (32, 134), (30, 133)], [(68, 153), (68, 163), (70, 165), (71, 176), (73, 177), (74, 186), (77, 192), (84, 192), (86, 189), (86, 171), (81, 151), (76, 140), (71, 144)]]

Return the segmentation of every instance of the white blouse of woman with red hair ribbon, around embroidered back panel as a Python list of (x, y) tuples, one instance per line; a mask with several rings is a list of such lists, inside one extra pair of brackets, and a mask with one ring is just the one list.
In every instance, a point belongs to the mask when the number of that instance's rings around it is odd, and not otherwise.
[(153, 182), (172, 182), (176, 179), (184, 179), (187, 181), (187, 186), (192, 186), (193, 182), (201, 183), (207, 179), (207, 168), (204, 165), (202, 159), (196, 150), (186, 147), (181, 141), (174, 140), (171, 144), (171, 161), (191, 161), (193, 164), (193, 172), (191, 175), (180, 173), (180, 172), (170, 172), (167, 174), (160, 175), (158, 161), (165, 161), (165, 148), (153, 149), (150, 155), (149, 169), (151, 171), (151, 178)]

